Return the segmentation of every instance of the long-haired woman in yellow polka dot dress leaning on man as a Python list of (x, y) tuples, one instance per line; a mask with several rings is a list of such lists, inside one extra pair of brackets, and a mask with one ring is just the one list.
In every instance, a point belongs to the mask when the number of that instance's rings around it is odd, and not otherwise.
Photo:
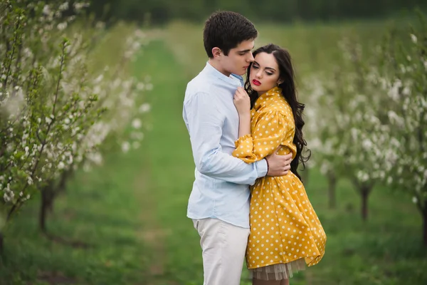
[(246, 264), (254, 285), (289, 284), (292, 273), (317, 264), (326, 234), (297, 172), (307, 161), (302, 110), (297, 101), (290, 54), (269, 44), (258, 48), (245, 88), (234, 95), (240, 125), (233, 156), (251, 163), (277, 151), (292, 153), (291, 170), (263, 177), (251, 187), (251, 234)]

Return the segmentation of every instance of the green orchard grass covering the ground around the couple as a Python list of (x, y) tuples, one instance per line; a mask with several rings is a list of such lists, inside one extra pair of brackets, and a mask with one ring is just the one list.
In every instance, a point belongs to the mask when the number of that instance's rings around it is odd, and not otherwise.
[[(135, 75), (149, 74), (154, 84), (145, 98), (152, 104), (152, 130), (142, 147), (110, 153), (104, 166), (79, 172), (48, 221), (52, 233), (90, 247), (41, 236), (35, 200), (4, 232), (1, 285), (202, 284), (199, 236), (186, 218), (194, 162), (181, 111), (186, 83), (206, 58), (197, 43), (200, 27), (181, 28), (173, 38), (172, 30), (164, 31), (135, 63)], [(317, 170), (309, 175), (306, 189), (327, 232), (327, 249), (320, 264), (297, 274), (292, 285), (427, 284), (421, 217), (410, 197), (376, 188), (364, 223), (349, 182), (338, 183), (337, 209), (329, 209), (325, 178)], [(247, 274), (244, 269), (241, 284), (250, 284)]]

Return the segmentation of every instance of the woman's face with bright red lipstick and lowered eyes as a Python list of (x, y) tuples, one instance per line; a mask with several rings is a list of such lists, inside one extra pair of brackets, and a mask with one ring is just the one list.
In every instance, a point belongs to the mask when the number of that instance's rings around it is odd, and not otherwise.
[(263, 94), (279, 83), (279, 66), (273, 53), (258, 53), (251, 66), (249, 82), (252, 90)]

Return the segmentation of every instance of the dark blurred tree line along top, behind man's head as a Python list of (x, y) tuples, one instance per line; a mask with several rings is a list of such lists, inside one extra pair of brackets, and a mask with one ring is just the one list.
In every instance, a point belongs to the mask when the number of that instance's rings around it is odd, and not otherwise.
[(149, 21), (201, 22), (217, 9), (241, 13), (253, 21), (291, 23), (295, 21), (337, 21), (378, 19), (399, 14), (402, 9), (426, 7), (423, 0), (92, 0), (90, 10), (98, 17)]

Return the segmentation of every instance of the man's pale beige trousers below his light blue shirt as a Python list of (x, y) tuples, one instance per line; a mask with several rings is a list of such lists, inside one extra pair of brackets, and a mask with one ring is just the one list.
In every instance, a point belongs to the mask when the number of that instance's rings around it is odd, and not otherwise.
[(200, 235), (204, 285), (239, 285), (250, 229), (220, 219), (193, 219)]

